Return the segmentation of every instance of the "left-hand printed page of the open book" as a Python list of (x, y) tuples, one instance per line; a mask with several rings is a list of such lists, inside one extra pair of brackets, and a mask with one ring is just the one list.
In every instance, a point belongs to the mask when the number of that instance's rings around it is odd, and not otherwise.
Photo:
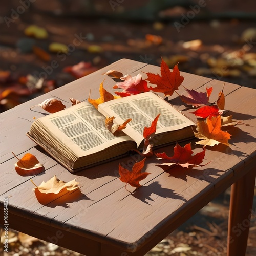
[(64, 144), (78, 157), (83, 156), (86, 151), (87, 154), (92, 154), (116, 143), (132, 140), (122, 131), (114, 136), (106, 129), (105, 117), (89, 102), (79, 103), (39, 118), (38, 121), (43, 125), (45, 132), (57, 138), (61, 142), (60, 145)]

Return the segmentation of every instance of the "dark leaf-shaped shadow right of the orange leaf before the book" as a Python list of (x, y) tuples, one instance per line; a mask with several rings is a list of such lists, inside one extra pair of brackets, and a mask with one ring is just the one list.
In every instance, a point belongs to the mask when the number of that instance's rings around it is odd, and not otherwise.
[(155, 194), (163, 198), (180, 199), (185, 202), (187, 201), (184, 197), (177, 194), (173, 189), (163, 188), (158, 181), (154, 181), (148, 186), (142, 186), (136, 189), (131, 195), (141, 200), (143, 203), (151, 205), (149, 202), (146, 201), (154, 201), (154, 199), (150, 197), (151, 194)]

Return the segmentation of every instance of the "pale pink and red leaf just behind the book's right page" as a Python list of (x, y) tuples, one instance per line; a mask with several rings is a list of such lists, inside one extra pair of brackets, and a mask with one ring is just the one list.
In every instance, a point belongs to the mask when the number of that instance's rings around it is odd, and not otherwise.
[(123, 89), (122, 92), (115, 92), (115, 94), (121, 97), (150, 91), (150, 89), (147, 87), (147, 81), (142, 79), (141, 74), (133, 77), (131, 75), (125, 75), (120, 77), (120, 79), (124, 82), (118, 82), (115, 86), (113, 86), (113, 88)]

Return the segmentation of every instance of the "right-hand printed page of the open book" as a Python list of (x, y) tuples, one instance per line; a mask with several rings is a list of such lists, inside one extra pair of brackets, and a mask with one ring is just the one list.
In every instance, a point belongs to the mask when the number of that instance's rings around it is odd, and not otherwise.
[(108, 101), (100, 104), (98, 109), (105, 116), (116, 117), (114, 122), (117, 124), (132, 118), (124, 132), (131, 136), (137, 145), (143, 140), (144, 127), (150, 127), (159, 113), (156, 134), (195, 125), (193, 121), (152, 92)]

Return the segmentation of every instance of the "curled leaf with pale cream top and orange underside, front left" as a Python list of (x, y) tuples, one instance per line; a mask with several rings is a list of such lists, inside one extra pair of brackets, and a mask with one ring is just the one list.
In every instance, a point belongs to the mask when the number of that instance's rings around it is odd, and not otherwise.
[(36, 198), (39, 203), (47, 204), (53, 200), (56, 200), (60, 197), (70, 196), (80, 187), (78, 186), (79, 182), (71, 180), (69, 182), (59, 180), (56, 175), (54, 175), (47, 182), (42, 182), (39, 186), (37, 186), (32, 180), (32, 183), (35, 185), (33, 189), (35, 191)]

